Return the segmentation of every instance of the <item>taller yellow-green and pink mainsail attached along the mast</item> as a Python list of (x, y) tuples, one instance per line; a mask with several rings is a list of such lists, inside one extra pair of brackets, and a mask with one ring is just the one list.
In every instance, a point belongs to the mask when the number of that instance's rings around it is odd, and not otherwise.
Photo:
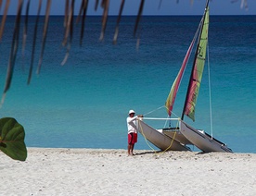
[(205, 64), (206, 48), (208, 43), (208, 29), (209, 7), (206, 6), (203, 25), (198, 39), (198, 48), (196, 51), (196, 57), (193, 64), (193, 69), (186, 94), (186, 103), (183, 112), (183, 116), (185, 114), (186, 116), (190, 117), (193, 121), (195, 121), (195, 107), (197, 104), (198, 92)]

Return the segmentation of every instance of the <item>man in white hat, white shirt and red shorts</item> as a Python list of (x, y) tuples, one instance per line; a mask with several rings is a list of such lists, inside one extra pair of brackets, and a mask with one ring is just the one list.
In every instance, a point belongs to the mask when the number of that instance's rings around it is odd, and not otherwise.
[(128, 128), (128, 155), (134, 155), (134, 144), (137, 142), (137, 127), (136, 118), (143, 117), (142, 115), (134, 116), (134, 110), (129, 111), (127, 117), (127, 128)]

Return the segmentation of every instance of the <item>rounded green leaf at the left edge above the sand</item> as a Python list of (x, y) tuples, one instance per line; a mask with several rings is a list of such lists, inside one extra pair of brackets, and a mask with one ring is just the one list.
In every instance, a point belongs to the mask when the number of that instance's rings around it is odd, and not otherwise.
[(0, 119), (0, 150), (12, 159), (25, 161), (27, 148), (24, 128), (13, 117)]

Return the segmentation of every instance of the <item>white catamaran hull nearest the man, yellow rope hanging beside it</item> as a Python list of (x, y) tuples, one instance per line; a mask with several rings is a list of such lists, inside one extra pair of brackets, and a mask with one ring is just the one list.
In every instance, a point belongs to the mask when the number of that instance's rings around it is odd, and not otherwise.
[(191, 151), (185, 144), (174, 140), (158, 129), (151, 128), (140, 119), (137, 119), (137, 129), (147, 141), (150, 141), (162, 151)]

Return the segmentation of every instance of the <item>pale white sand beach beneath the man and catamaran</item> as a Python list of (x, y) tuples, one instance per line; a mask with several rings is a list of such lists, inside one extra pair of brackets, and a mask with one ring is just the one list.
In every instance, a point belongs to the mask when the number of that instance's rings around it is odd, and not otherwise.
[(28, 148), (0, 153), (0, 195), (256, 195), (256, 153)]

